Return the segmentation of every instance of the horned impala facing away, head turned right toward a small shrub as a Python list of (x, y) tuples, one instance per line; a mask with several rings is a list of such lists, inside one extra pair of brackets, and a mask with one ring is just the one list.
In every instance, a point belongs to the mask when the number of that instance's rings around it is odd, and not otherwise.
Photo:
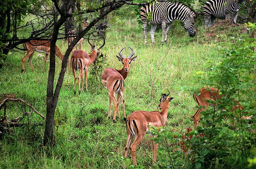
[(97, 56), (101, 55), (102, 53), (99, 51), (104, 45), (105, 45), (105, 38), (103, 39), (103, 44), (98, 48), (95, 49), (95, 45), (92, 45), (88, 39), (89, 44), (91, 45), (91, 54), (88, 55), (86, 52), (82, 50), (75, 50), (74, 53), (71, 56), (71, 67), (74, 75), (74, 94), (76, 94), (76, 71), (79, 69), (79, 75), (78, 75), (78, 85), (79, 85), (79, 91), (80, 94), (81, 88), (80, 88), (80, 80), (82, 80), (82, 90), (84, 87), (84, 78), (83, 78), (83, 70), (85, 70), (85, 88), (86, 91), (88, 91), (87, 87), (87, 74), (88, 74), (88, 67), (92, 63), (96, 63)]

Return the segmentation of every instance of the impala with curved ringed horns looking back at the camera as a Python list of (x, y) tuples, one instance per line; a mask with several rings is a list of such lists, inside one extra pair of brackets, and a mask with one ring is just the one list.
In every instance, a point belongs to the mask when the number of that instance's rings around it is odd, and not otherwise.
[[(125, 49), (125, 48), (123, 48), (123, 49)], [(124, 79), (126, 79), (126, 77), (129, 74), (130, 64), (137, 57), (137, 56), (135, 56), (132, 58), (132, 56), (135, 53), (134, 53), (134, 50), (132, 48), (130, 48), (132, 50), (132, 53), (127, 58), (125, 58), (121, 54), (123, 49), (121, 49), (118, 53), (120, 57), (116, 56), (117, 59), (120, 62), (122, 62), (123, 68), (120, 70), (114, 69), (114, 68), (107, 68), (102, 72), (102, 75), (101, 75), (102, 84), (106, 89), (108, 89), (108, 95), (109, 95), (108, 118), (110, 118), (111, 101), (113, 102), (114, 107), (115, 107), (113, 122), (116, 121), (116, 112), (118, 112), (118, 117), (120, 117), (119, 98), (121, 99), (123, 114), (124, 114), (124, 119), (125, 119), (125, 109), (124, 109), (124, 99), (123, 99)], [(117, 94), (117, 99), (115, 96), (116, 94)]]

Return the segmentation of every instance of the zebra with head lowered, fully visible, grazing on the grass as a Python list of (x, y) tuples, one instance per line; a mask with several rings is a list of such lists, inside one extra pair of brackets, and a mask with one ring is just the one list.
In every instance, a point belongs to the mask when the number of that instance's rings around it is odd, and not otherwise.
[[(152, 13), (152, 18), (148, 17), (149, 13)], [(153, 43), (155, 43), (154, 33), (157, 25), (162, 25), (162, 44), (164, 41), (168, 43), (168, 33), (174, 20), (184, 22), (184, 27), (190, 37), (194, 37), (196, 34), (194, 18), (197, 17), (197, 14), (193, 9), (180, 2), (164, 1), (143, 5), (140, 9), (140, 16), (143, 23), (145, 44), (147, 44), (148, 21), (151, 24), (150, 35)]]

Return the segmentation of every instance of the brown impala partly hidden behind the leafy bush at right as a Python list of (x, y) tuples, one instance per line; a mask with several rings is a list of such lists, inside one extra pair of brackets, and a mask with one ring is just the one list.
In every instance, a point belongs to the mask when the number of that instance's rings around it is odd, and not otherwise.
[[(220, 90), (212, 88), (212, 87), (203, 87), (201, 89), (198, 90), (199, 92), (194, 92), (193, 94), (193, 98), (195, 100), (195, 102), (198, 104), (198, 109), (197, 111), (194, 113), (194, 115), (191, 117), (191, 119), (194, 121), (194, 129), (196, 130), (196, 127), (199, 124), (199, 119), (201, 117), (201, 112), (205, 111), (208, 106), (214, 107), (217, 106), (216, 104), (210, 104), (209, 100), (212, 101), (216, 101), (219, 100), (220, 98), (223, 97), (222, 94), (220, 93)], [(234, 103), (236, 103), (237, 105), (232, 105), (231, 109), (229, 111), (231, 111), (232, 113), (236, 112), (237, 109), (239, 110), (243, 110), (243, 106), (238, 102), (238, 101), (234, 101)], [(241, 119), (251, 119), (252, 116), (242, 116)], [(231, 125), (233, 126), (234, 124), (231, 123)], [(254, 133), (254, 130), (251, 129), (251, 132)]]

